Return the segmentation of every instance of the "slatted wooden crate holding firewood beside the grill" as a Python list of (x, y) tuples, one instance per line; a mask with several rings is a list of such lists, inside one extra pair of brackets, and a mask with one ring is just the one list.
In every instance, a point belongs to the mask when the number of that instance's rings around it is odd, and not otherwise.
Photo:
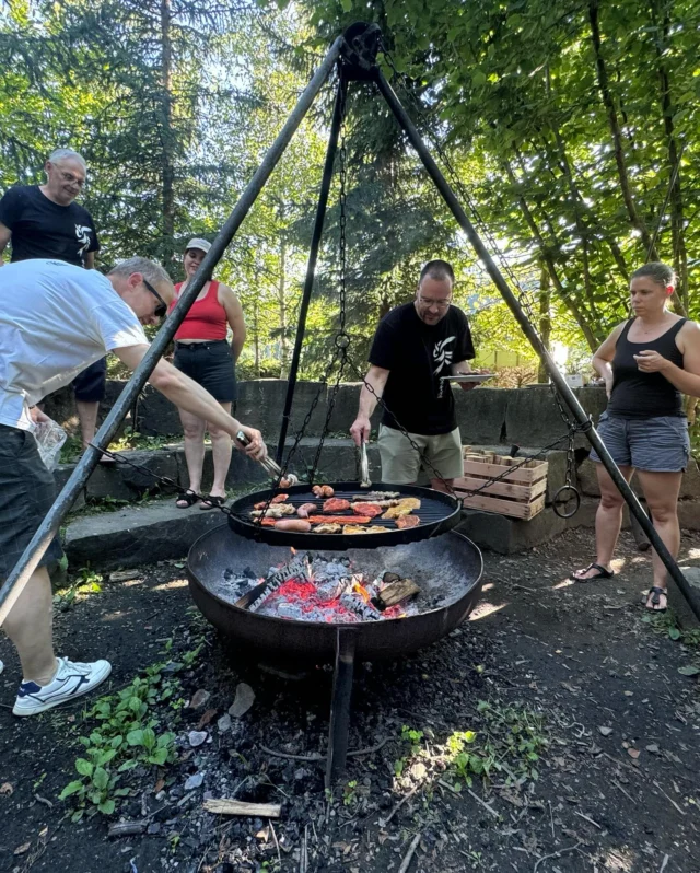
[(512, 473), (506, 473), (517, 463), (518, 458), (492, 452), (475, 452), (470, 446), (465, 446), (464, 477), (454, 481), (457, 496), (460, 491), (479, 488), (494, 476), (505, 475), (478, 494), (465, 496), (463, 504), (468, 509), (486, 510), (514, 519), (534, 519), (545, 509), (549, 464), (546, 461), (528, 461)]

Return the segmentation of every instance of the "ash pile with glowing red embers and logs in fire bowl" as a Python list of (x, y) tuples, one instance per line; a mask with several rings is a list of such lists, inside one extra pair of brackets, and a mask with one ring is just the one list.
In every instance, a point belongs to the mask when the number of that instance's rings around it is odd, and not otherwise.
[(226, 581), (238, 595), (259, 587), (249, 612), (294, 621), (382, 621), (420, 612), (420, 589), (412, 580), (390, 571), (376, 578), (358, 572), (349, 559), (299, 554), (282, 567), (271, 567), (264, 579), (244, 570)]

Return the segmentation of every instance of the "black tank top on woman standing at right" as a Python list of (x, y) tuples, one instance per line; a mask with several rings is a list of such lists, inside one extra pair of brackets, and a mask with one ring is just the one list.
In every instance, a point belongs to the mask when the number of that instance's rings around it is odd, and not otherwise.
[(662, 373), (642, 373), (633, 356), (640, 351), (656, 351), (682, 369), (682, 354), (676, 346), (676, 335), (687, 322), (681, 318), (658, 339), (630, 342), (627, 335), (634, 318), (625, 325), (615, 347), (612, 359), (612, 394), (608, 415), (616, 418), (657, 418), (684, 416), (682, 397)]

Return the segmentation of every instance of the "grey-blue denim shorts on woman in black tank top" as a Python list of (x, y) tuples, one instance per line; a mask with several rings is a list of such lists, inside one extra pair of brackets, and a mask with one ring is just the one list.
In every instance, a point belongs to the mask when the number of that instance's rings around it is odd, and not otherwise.
[[(681, 473), (690, 458), (688, 419), (685, 416), (617, 418), (604, 412), (598, 434), (618, 467), (649, 473)], [(591, 461), (600, 461), (595, 449)]]

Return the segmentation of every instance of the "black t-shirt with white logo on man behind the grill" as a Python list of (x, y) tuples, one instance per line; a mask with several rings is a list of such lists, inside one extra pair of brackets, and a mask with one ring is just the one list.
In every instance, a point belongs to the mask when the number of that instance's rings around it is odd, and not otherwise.
[(390, 412), (384, 411), (382, 423), (400, 423), (410, 433), (450, 433), (457, 427), (455, 403), (450, 383), (440, 377), (451, 375), (453, 363), (474, 357), (467, 316), (456, 306), (436, 325), (422, 322), (413, 303), (392, 310), (370, 351), (371, 364), (390, 371), (383, 395)]

